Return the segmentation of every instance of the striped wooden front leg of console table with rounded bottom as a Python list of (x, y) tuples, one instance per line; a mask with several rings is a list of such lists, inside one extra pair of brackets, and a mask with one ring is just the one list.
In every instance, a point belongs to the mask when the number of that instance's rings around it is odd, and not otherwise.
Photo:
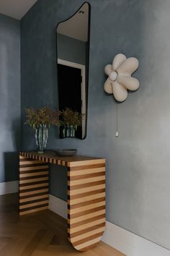
[(68, 167), (68, 239), (75, 249), (86, 251), (102, 239), (104, 226), (105, 161), (72, 162)]

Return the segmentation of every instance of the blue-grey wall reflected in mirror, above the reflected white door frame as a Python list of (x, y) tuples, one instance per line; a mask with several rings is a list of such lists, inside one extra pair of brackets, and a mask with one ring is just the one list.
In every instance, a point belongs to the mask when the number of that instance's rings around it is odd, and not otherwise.
[(66, 35), (57, 34), (57, 49), (58, 59), (64, 59), (81, 65), (86, 64), (85, 42)]

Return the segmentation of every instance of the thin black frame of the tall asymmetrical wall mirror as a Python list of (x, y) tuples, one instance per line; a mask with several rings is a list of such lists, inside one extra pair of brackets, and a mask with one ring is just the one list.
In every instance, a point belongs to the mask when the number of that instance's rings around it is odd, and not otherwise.
[[(87, 135), (87, 116), (88, 116), (88, 96), (89, 96), (89, 54), (90, 54), (90, 25), (91, 25), (91, 5), (89, 4), (89, 2), (85, 1), (83, 4), (81, 4), (81, 7), (84, 6), (84, 4), (88, 4), (89, 6), (89, 19), (88, 19), (88, 47), (87, 47), (87, 55), (88, 55), (88, 61), (86, 63), (86, 121), (85, 121), (85, 135), (84, 137), (80, 138), (80, 137), (73, 137), (76, 139), (80, 139), (80, 140), (85, 140), (86, 139), (86, 135)], [(69, 17), (66, 20), (63, 20), (61, 22), (58, 22), (58, 25), (60, 25), (63, 22), (66, 22), (67, 20), (70, 20), (77, 12), (79, 12), (79, 10), (81, 9), (81, 7), (79, 7), (79, 9), (77, 9), (76, 12), (73, 13), (73, 15), (71, 15), (71, 17)], [(56, 46), (56, 70), (57, 70), (57, 81), (58, 81), (58, 35), (57, 35), (57, 30), (58, 30), (58, 25), (55, 27), (55, 46)], [(59, 88), (58, 88), (59, 89)], [(58, 90), (58, 106), (59, 106), (59, 90)], [(58, 129), (59, 131), (59, 129)], [(59, 134), (59, 138), (60, 139), (65, 139), (65, 138), (61, 138), (60, 134)]]

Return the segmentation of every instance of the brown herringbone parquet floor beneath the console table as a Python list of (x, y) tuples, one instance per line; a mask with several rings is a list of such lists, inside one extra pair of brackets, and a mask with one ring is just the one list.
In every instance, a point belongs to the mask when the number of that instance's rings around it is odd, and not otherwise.
[(123, 256), (104, 242), (77, 252), (68, 242), (66, 220), (50, 210), (19, 218), (17, 197), (0, 196), (0, 256)]

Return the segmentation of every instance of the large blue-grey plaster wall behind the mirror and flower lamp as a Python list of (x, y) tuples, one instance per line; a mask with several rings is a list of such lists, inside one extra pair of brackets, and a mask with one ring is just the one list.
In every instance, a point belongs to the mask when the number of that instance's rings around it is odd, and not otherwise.
[[(40, 0), (22, 20), (22, 123), (24, 107), (58, 106), (55, 26), (84, 1)], [(170, 249), (170, 1), (90, 0), (89, 114), (86, 140), (59, 140), (48, 148), (77, 148), (107, 159), (107, 220)], [(104, 66), (115, 54), (135, 56), (140, 89), (119, 105), (106, 95)], [(35, 149), (29, 127), (23, 150)], [(53, 167), (51, 192), (66, 199), (66, 174)], [(61, 177), (60, 177), (61, 176)], [(61, 178), (61, 184), (55, 179)], [(59, 192), (59, 190), (60, 192)], [(65, 190), (64, 190), (65, 189)]]

